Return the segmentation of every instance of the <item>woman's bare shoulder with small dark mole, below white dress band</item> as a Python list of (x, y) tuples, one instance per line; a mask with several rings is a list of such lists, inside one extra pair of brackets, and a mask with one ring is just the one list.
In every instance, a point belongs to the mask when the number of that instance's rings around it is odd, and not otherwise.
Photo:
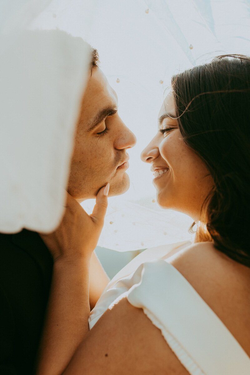
[(161, 331), (126, 298), (90, 330), (63, 375), (189, 375)]

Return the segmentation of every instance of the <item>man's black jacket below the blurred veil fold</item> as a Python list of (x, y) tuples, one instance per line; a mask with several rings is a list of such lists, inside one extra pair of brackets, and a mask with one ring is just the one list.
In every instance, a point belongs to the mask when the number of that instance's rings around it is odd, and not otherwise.
[(0, 374), (33, 374), (53, 260), (36, 232), (0, 233)]

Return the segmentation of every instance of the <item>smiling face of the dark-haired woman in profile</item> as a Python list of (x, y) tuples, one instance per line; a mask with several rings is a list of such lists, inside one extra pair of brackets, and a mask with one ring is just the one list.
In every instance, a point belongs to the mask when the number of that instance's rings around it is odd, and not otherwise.
[(151, 164), (157, 202), (188, 214), (197, 221), (202, 203), (213, 186), (213, 179), (204, 162), (184, 142), (176, 117), (172, 91), (159, 112), (158, 131), (141, 153)]

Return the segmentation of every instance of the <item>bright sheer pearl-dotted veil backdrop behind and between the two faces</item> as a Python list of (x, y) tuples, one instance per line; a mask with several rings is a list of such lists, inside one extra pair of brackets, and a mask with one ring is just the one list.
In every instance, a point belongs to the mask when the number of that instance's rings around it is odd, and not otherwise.
[[(249, 1), (54, 0), (31, 27), (66, 30), (98, 49), (119, 114), (138, 139), (129, 150), (130, 189), (109, 199), (99, 246), (129, 251), (189, 239), (192, 219), (153, 202), (153, 175), (139, 155), (157, 131), (173, 74), (219, 54), (249, 54)], [(93, 202), (83, 207), (91, 211)]]

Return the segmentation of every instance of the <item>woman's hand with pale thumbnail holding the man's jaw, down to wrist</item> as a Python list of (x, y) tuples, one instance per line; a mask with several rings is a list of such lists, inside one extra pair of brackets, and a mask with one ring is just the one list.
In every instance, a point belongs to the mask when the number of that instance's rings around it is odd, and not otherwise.
[(90, 259), (103, 228), (108, 191), (109, 184), (99, 190), (91, 215), (67, 193), (66, 211), (58, 228), (49, 234), (40, 233), (54, 262)]

